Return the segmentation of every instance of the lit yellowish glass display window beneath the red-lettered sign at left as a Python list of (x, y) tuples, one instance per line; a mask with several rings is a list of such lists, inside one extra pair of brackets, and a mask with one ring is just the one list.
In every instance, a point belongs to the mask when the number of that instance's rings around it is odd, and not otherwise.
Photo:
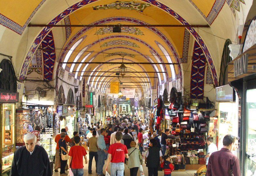
[(12, 165), (12, 158), (15, 150), (15, 131), (14, 131), (14, 104), (2, 105), (2, 172), (9, 169)]

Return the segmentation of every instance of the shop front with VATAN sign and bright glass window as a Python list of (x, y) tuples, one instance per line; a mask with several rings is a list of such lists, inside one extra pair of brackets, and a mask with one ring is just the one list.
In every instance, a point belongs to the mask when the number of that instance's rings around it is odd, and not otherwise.
[[(247, 36), (246, 36), (247, 37)], [(255, 34), (254, 34), (255, 37)], [(246, 46), (246, 42), (244, 47)], [(243, 176), (256, 175), (256, 44), (228, 63), (228, 82), (241, 97), (240, 167)]]

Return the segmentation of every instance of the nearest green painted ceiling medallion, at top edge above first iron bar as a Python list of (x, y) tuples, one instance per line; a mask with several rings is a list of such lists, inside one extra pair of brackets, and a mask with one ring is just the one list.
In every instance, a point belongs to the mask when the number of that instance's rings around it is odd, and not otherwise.
[(128, 9), (128, 10), (136, 10), (136, 11), (141, 11), (146, 7), (149, 7), (150, 5), (147, 3), (135, 3), (133, 1), (130, 2), (125, 2), (125, 1), (116, 1), (111, 4), (104, 4), (104, 5), (98, 5), (98, 6), (93, 6), (93, 10), (106, 10), (106, 9)]

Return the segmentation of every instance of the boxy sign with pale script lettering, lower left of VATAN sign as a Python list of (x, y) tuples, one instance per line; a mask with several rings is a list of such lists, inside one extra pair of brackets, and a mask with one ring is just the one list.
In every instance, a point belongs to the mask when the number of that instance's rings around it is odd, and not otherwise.
[(216, 101), (234, 101), (234, 88), (229, 84), (216, 87)]

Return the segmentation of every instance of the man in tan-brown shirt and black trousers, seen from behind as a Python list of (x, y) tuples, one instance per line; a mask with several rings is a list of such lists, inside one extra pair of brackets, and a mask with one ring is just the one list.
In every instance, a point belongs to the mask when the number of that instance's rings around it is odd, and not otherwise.
[(92, 131), (92, 137), (88, 140), (87, 146), (89, 147), (89, 165), (88, 165), (88, 174), (92, 174), (92, 159), (94, 157), (96, 164), (96, 173), (97, 173), (97, 163), (98, 163), (98, 145), (96, 131)]

